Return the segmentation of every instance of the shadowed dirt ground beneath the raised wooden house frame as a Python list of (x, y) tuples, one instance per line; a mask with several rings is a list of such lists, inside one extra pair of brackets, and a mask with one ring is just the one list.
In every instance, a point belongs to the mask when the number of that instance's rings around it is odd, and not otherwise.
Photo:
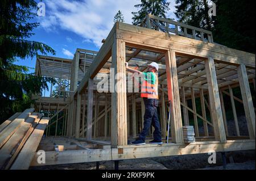
[[(221, 153), (216, 154), (216, 163), (208, 163), (208, 154), (191, 154), (170, 157), (141, 158), (119, 161), (120, 170), (164, 170), (164, 169), (203, 169), (203, 170), (222, 170)], [(232, 151), (226, 153), (228, 163), (227, 170), (255, 170), (255, 150)], [(30, 167), (38, 170), (95, 170), (96, 162), (75, 163), (65, 165)], [(114, 169), (113, 161), (100, 162), (100, 169)]]

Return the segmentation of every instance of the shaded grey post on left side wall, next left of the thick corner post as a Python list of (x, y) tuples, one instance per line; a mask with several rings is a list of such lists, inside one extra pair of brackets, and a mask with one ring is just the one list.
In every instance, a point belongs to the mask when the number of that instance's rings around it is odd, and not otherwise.
[[(86, 139), (92, 140), (92, 116), (93, 116), (93, 79), (89, 78), (88, 81), (88, 103), (87, 103), (87, 126), (86, 126)], [(95, 124), (95, 123), (94, 123)]]

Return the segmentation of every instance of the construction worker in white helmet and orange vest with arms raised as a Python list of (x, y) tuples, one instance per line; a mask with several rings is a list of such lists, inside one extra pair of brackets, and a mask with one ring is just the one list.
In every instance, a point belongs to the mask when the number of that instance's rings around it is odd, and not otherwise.
[(131, 142), (133, 145), (144, 145), (145, 138), (150, 130), (151, 122), (155, 131), (153, 133), (154, 140), (150, 141), (150, 144), (163, 144), (161, 137), (161, 128), (158, 119), (158, 77), (155, 72), (158, 71), (158, 64), (156, 62), (151, 62), (147, 65), (147, 72), (141, 72), (136, 69), (129, 68), (128, 62), (125, 63), (126, 70), (131, 73), (138, 73), (139, 77), (142, 77), (141, 83), (141, 98), (144, 100), (145, 113), (144, 113), (144, 127), (139, 134), (139, 137)]

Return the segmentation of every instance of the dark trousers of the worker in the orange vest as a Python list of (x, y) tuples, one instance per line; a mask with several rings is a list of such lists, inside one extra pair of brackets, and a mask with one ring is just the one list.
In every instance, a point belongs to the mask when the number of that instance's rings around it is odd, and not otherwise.
[(145, 141), (146, 135), (151, 127), (151, 122), (153, 127), (155, 128), (155, 131), (153, 133), (154, 140), (162, 140), (161, 137), (161, 127), (158, 119), (158, 99), (147, 99), (143, 98), (144, 104), (145, 104), (145, 114), (144, 114), (144, 127), (139, 134), (139, 138), (141, 138), (143, 141)]

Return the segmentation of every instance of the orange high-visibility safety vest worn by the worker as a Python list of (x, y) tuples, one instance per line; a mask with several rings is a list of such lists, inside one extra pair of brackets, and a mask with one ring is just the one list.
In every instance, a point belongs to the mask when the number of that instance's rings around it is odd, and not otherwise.
[(145, 79), (142, 81), (142, 86), (141, 86), (142, 98), (158, 99), (158, 77), (156, 76), (156, 74), (155, 74), (155, 77), (156, 77), (155, 84), (149, 83)]

